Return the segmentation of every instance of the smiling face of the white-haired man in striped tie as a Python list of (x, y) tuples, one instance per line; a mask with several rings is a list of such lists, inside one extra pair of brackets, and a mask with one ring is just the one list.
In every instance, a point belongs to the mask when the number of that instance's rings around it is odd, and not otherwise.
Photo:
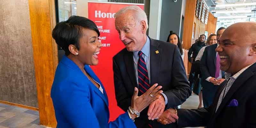
[(129, 52), (140, 51), (146, 43), (146, 22), (136, 22), (132, 13), (127, 11), (115, 19), (120, 40)]

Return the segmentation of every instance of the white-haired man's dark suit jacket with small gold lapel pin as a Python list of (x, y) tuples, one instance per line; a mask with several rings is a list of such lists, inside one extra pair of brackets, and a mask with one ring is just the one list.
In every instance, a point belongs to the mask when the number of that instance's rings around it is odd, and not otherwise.
[[(150, 39), (150, 73), (151, 85), (158, 83), (168, 98), (165, 108), (182, 104), (191, 94), (184, 64), (176, 45)], [(159, 53), (156, 53), (158, 50)], [(117, 105), (124, 111), (131, 106), (134, 87), (138, 87), (133, 63), (133, 52), (126, 48), (113, 57), (114, 84)], [(148, 109), (141, 112), (135, 124), (148, 121)], [(141, 121), (137, 121), (141, 120)]]

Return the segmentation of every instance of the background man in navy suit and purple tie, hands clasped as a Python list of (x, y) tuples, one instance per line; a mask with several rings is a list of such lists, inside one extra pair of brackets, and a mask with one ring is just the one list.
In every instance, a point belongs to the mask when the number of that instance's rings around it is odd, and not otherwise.
[[(220, 34), (221, 32), (222, 34), (223, 31), (224, 29), (220, 28), (217, 30), (217, 33)], [(218, 86), (225, 80), (224, 71), (220, 70), (220, 56), (215, 51), (216, 48), (217, 44), (207, 46), (200, 61), (203, 103), (205, 108), (212, 104)]]

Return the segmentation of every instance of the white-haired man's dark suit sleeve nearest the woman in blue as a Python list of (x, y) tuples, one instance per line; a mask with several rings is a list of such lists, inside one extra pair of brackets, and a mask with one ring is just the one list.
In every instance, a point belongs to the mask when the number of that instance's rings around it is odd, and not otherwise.
[(127, 111), (128, 107), (131, 106), (132, 96), (127, 94), (127, 91), (124, 87), (123, 78), (121, 77), (120, 68), (118, 67), (116, 60), (114, 58), (113, 71), (117, 106), (119, 106), (124, 111)]

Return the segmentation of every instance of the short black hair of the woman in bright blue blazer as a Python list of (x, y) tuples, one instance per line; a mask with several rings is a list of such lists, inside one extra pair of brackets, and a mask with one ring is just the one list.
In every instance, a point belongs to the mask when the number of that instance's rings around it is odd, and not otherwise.
[(100, 36), (96, 24), (92, 20), (81, 16), (71, 16), (67, 21), (62, 21), (53, 28), (52, 37), (65, 51), (66, 56), (70, 54), (68, 49), (70, 44), (75, 45), (79, 50), (79, 39), (83, 36), (82, 28), (94, 30)]

